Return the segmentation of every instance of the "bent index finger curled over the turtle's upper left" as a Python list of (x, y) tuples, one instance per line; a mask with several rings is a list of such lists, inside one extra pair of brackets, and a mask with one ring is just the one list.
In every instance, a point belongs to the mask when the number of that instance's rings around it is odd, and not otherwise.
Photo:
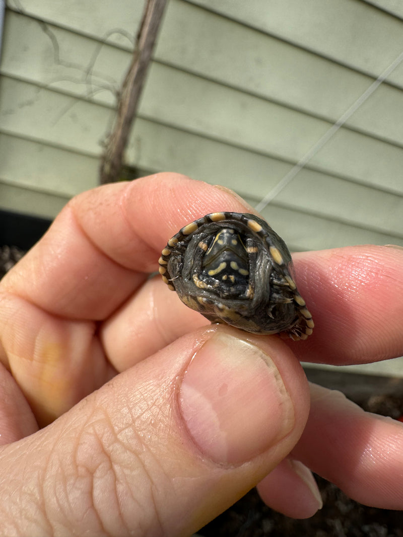
[(175, 173), (104, 185), (73, 198), (2, 287), (47, 313), (103, 320), (157, 270), (167, 237), (184, 222), (245, 208)]

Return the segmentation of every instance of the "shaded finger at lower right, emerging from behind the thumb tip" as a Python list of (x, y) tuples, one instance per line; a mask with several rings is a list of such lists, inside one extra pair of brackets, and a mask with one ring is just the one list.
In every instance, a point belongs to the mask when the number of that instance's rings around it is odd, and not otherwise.
[(311, 412), (293, 456), (365, 505), (401, 510), (403, 426), (311, 385)]

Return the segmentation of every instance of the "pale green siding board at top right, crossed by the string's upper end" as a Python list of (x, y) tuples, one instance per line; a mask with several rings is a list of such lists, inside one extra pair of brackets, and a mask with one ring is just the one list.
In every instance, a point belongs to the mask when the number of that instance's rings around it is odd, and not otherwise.
[(189, 1), (374, 77), (403, 50), (402, 21), (362, 0)]

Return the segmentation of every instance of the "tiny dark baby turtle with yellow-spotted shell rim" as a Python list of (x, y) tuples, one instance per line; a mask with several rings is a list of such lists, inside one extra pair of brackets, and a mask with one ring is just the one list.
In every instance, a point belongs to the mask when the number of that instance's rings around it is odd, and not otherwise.
[(312, 333), (290, 251), (258, 216), (207, 214), (170, 238), (159, 263), (168, 287), (212, 323), (294, 340)]

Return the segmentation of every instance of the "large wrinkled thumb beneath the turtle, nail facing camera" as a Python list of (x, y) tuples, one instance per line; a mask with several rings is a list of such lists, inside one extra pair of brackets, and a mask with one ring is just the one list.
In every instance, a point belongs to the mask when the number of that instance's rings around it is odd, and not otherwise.
[(281, 340), (200, 329), (2, 448), (0, 533), (189, 535), (290, 452), (308, 405)]

